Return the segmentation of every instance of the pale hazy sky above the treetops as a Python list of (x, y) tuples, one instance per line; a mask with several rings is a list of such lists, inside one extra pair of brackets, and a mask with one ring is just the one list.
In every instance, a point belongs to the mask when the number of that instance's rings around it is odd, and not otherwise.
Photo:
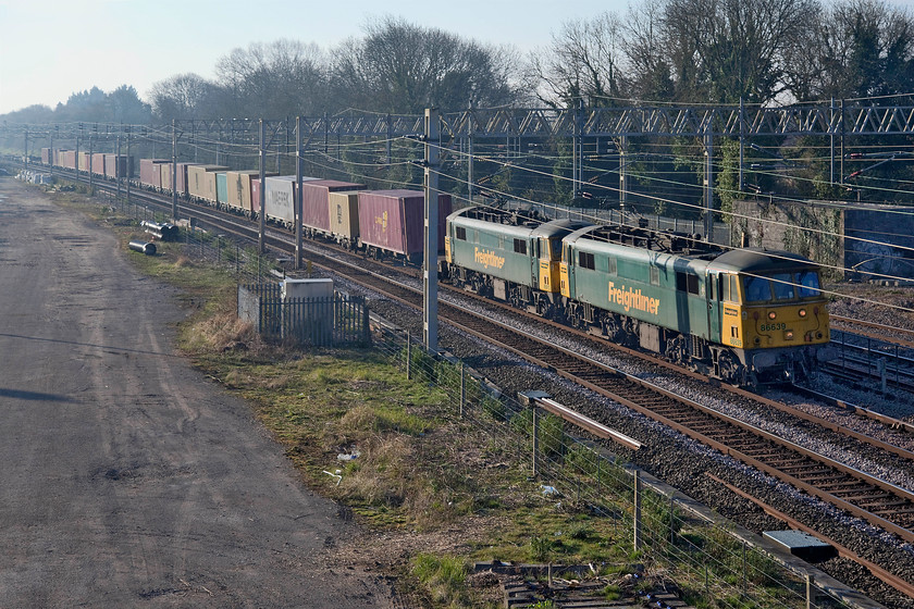
[[(634, 0), (637, 1), (637, 0)], [(74, 91), (127, 84), (146, 98), (184, 72), (212, 77), (236, 47), (279, 38), (330, 49), (392, 14), (521, 51), (564, 21), (626, 12), (629, 0), (0, 0), (0, 114), (53, 108)]]

